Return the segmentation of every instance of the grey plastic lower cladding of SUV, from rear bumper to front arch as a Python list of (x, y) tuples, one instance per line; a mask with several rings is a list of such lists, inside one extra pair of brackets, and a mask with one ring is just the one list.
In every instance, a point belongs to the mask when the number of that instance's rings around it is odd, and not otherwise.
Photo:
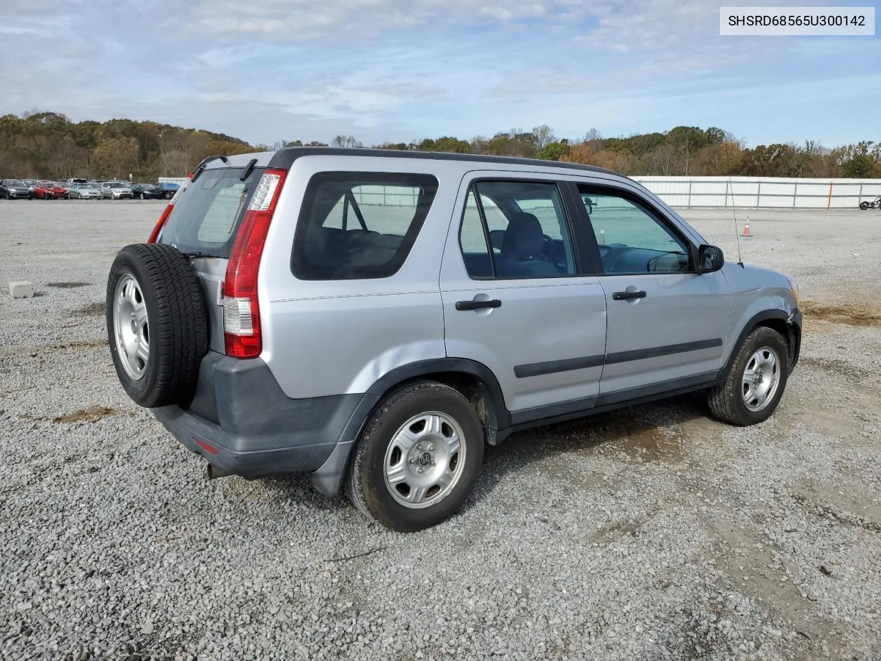
[[(744, 328), (744, 335), (765, 318), (785, 319), (787, 316), (772, 313), (755, 318)], [(787, 321), (790, 324), (791, 369), (795, 367), (801, 349), (801, 311), (796, 309)], [(738, 344), (742, 340), (739, 338)], [(454, 360), (448, 368), (434, 364), (437, 361), (428, 362), (432, 364), (425, 366), (424, 371), (407, 370), (399, 380), (378, 383), (381, 387), (375, 392), (292, 399), (278, 386), (263, 360), (237, 360), (209, 352), (199, 368), (196, 395), (189, 408), (166, 406), (152, 411), (185, 447), (227, 472), (248, 479), (306, 472), (318, 491), (333, 496), (342, 484), (361, 427), (390, 388), (418, 375), (464, 369), (461, 360)], [(590, 401), (563, 402), (543, 407), (541, 411), (515, 414), (504, 408), (500, 392), (494, 395), (489, 391), (487, 395), (492, 398), (497, 415), (504, 414), (500, 424), (493, 423), (489, 431), (496, 442), (500, 442), (507, 434), (537, 424), (571, 420), (593, 412), (707, 388), (720, 382), (724, 373), (723, 368), (721, 375), (693, 375), (677, 382), (606, 393)], [(498, 389), (497, 383), (495, 388)]]

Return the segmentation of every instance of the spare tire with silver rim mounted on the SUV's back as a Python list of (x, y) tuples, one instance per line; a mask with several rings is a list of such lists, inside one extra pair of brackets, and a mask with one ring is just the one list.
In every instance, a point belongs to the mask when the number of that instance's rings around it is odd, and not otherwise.
[(116, 255), (107, 278), (107, 340), (116, 375), (138, 405), (189, 405), (208, 352), (202, 289), (189, 259), (158, 243)]

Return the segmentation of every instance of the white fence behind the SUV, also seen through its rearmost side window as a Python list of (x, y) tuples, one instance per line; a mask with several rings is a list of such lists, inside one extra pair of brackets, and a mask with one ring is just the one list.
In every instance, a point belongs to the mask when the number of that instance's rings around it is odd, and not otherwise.
[[(634, 176), (663, 201), (677, 208), (745, 207), (766, 209), (855, 209), (881, 195), (881, 179), (785, 179), (774, 177)], [(181, 177), (159, 182), (182, 183)], [(412, 189), (363, 186), (359, 202), (412, 206)]]

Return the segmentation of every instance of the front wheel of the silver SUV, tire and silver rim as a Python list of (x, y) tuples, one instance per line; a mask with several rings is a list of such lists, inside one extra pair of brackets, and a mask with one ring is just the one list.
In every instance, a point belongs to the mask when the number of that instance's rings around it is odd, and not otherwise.
[(770, 418), (780, 404), (789, 374), (789, 352), (781, 334), (757, 326), (744, 339), (725, 382), (707, 393), (718, 420), (749, 427)]

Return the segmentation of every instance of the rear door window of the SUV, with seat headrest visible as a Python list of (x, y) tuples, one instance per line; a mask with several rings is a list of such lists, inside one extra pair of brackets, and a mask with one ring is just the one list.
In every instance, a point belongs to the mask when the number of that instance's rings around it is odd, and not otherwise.
[(556, 183), (476, 182), (459, 232), (470, 278), (575, 274), (566, 212)]

